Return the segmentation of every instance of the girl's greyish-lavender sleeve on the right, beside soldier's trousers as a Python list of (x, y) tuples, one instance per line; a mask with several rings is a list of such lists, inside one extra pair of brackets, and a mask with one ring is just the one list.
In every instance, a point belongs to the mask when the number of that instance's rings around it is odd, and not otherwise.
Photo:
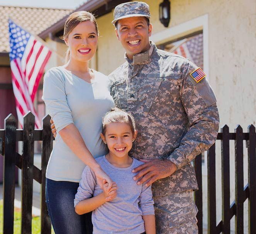
[(154, 215), (154, 200), (152, 197), (151, 186), (146, 187), (145, 183), (142, 184), (142, 190), (139, 199), (139, 207), (141, 208), (142, 215)]

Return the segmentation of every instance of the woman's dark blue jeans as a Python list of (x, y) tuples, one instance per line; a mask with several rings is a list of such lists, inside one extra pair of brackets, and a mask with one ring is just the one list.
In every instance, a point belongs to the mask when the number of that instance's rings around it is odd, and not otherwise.
[(92, 212), (78, 215), (74, 199), (79, 183), (46, 178), (46, 204), (55, 234), (92, 234)]

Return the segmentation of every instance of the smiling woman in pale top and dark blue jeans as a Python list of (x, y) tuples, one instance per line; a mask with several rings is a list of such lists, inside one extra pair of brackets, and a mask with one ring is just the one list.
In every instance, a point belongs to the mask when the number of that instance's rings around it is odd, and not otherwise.
[(46, 171), (46, 202), (56, 234), (92, 233), (91, 214), (79, 216), (74, 209), (85, 164), (99, 182), (109, 182), (109, 189), (113, 184), (93, 158), (107, 153), (100, 139), (102, 116), (114, 106), (109, 79), (88, 66), (97, 40), (95, 17), (71, 14), (64, 26), (69, 60), (44, 75), (42, 99), (58, 132)]

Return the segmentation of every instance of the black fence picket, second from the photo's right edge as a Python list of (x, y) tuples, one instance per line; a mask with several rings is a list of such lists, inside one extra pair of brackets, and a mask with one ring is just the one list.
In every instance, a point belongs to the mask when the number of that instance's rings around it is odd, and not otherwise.
[(242, 127), (238, 125), (235, 129), (235, 232), (237, 234), (244, 233), (244, 173), (243, 173), (243, 133)]

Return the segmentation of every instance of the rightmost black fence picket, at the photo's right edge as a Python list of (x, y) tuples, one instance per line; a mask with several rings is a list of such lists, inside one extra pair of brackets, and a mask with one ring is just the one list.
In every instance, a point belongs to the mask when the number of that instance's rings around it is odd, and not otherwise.
[(256, 133), (255, 127), (249, 125), (248, 140), (248, 233), (256, 234)]

